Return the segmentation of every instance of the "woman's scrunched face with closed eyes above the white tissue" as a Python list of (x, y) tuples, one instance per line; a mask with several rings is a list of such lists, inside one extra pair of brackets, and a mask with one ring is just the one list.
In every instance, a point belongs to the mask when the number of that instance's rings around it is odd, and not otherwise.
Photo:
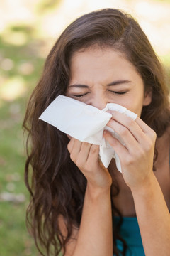
[(151, 95), (144, 94), (135, 66), (111, 48), (88, 48), (74, 53), (70, 72), (66, 95), (99, 110), (107, 103), (117, 103), (140, 117), (142, 106), (151, 102)]

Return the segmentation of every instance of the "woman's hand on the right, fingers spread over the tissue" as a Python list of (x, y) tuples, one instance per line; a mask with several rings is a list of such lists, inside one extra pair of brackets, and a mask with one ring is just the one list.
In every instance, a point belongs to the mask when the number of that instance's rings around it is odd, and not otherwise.
[(134, 121), (125, 114), (112, 111), (112, 119), (107, 126), (122, 137), (125, 146), (120, 144), (110, 132), (103, 137), (113, 147), (120, 158), (125, 183), (132, 188), (140, 188), (152, 176), (154, 144), (156, 133), (139, 117)]

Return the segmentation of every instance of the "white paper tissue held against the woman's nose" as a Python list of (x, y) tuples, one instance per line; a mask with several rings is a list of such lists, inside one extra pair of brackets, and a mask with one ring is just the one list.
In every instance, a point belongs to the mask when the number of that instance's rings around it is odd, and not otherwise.
[(100, 145), (99, 156), (103, 165), (108, 168), (111, 159), (115, 158), (116, 166), (121, 172), (118, 155), (103, 138), (103, 130), (107, 129), (120, 143), (125, 145), (123, 139), (113, 129), (106, 126), (112, 117), (112, 114), (106, 112), (107, 110), (121, 112), (134, 120), (137, 118), (137, 114), (118, 104), (108, 103), (103, 110), (98, 110), (79, 100), (59, 95), (41, 114), (40, 119), (81, 142)]

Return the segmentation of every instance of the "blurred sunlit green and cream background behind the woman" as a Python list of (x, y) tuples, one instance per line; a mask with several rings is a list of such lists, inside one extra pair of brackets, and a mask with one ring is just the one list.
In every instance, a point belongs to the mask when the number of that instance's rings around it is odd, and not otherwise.
[(140, 22), (170, 81), (170, 1), (6, 0), (0, 2), (0, 255), (39, 255), (26, 230), (22, 122), (53, 43), (81, 14), (113, 7)]

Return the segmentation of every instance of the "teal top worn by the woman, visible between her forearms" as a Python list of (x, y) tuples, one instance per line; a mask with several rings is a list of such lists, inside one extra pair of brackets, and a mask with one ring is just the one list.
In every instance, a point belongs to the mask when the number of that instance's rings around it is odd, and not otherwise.
[[(114, 224), (116, 225), (119, 220), (119, 217), (114, 217)], [(120, 226), (120, 235), (128, 245), (128, 251), (126, 252), (126, 256), (145, 256), (142, 245), (142, 238), (140, 235), (140, 227), (137, 223), (136, 217), (123, 217), (123, 224)], [(122, 252), (123, 243), (120, 240), (117, 240), (116, 245), (118, 247), (118, 250)]]

